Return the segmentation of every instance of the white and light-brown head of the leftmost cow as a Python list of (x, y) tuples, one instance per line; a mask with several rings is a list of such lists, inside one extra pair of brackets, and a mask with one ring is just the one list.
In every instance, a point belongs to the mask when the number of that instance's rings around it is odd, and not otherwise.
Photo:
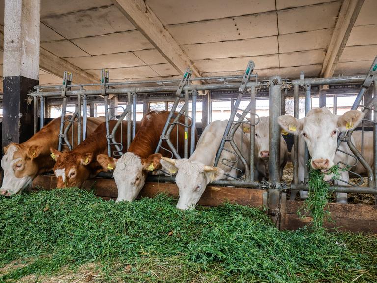
[(11, 196), (22, 192), (38, 174), (39, 166), (35, 160), (42, 152), (39, 145), (26, 146), (12, 143), (4, 147), (1, 167), (4, 180), (1, 195)]

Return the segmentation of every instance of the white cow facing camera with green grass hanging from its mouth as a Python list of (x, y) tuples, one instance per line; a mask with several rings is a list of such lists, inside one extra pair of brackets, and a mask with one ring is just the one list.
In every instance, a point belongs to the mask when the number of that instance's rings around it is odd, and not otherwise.
[[(281, 128), (288, 133), (299, 135), (299, 173), (298, 178), (304, 181), (304, 142), (306, 142), (311, 156), (310, 166), (326, 173), (339, 161), (345, 164), (354, 164), (354, 158), (350, 148), (342, 142), (339, 149), (348, 154), (337, 151), (338, 134), (346, 130), (354, 129), (363, 119), (364, 114), (358, 110), (350, 110), (342, 116), (331, 113), (327, 108), (311, 109), (305, 118), (296, 119), (290, 115), (283, 115), (278, 118)], [(339, 170), (340, 179), (348, 181), (347, 171)], [(325, 175), (325, 180), (331, 175)], [(345, 185), (340, 180), (335, 184)], [(295, 193), (294, 193), (295, 194)], [(293, 195), (294, 195), (293, 194)], [(292, 192), (291, 192), (292, 195)], [(307, 192), (300, 192), (301, 198), (307, 197)], [(294, 198), (294, 197), (293, 197)], [(291, 197), (292, 199), (292, 197)], [(347, 193), (337, 193), (338, 203), (347, 203)]]

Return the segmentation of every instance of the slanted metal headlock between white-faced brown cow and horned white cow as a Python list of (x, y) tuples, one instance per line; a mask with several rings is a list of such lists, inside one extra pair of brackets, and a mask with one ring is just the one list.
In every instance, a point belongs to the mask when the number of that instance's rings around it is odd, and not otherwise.
[[(188, 89), (184, 90), (184, 86), (190, 82), (190, 78), (191, 78), (191, 74), (192, 74), (192, 71), (190, 68), (187, 68), (185, 73), (183, 74), (183, 77), (181, 79), (181, 82), (179, 83), (178, 85), (178, 88), (175, 92), (175, 100), (174, 100), (174, 103), (173, 103), (173, 106), (170, 110), (170, 113), (169, 113), (169, 116), (166, 120), (166, 123), (165, 123), (165, 126), (163, 127), (163, 130), (162, 130), (162, 134), (160, 136), (160, 140), (159, 140), (159, 143), (157, 144), (157, 147), (156, 147), (156, 150), (155, 150), (155, 153), (158, 153), (159, 150), (162, 147), (162, 142), (163, 141), (166, 141), (166, 143), (168, 144), (169, 146), (169, 149), (167, 148), (163, 148), (167, 151), (169, 151), (171, 153), (171, 157), (175, 157), (177, 159), (180, 159), (181, 156), (178, 154), (178, 144), (177, 144), (177, 148), (173, 145), (173, 143), (170, 141), (170, 133), (171, 131), (173, 130), (174, 126), (177, 125), (177, 143), (178, 143), (178, 127), (179, 125), (185, 127), (185, 140), (184, 140), (184, 144), (185, 144), (185, 153), (184, 153), (184, 158), (188, 158), (188, 128), (190, 128), (191, 126), (195, 127), (195, 124), (193, 123), (193, 120), (191, 118), (191, 124), (188, 123), (188, 119), (190, 118), (188, 116)], [(184, 91), (184, 94), (182, 93)], [(181, 110), (179, 111), (179, 113), (175, 113), (176, 110), (177, 110), (177, 106), (178, 106), (178, 103), (180, 102), (180, 100), (184, 98), (184, 101), (185, 101), (185, 104), (182, 106)], [(195, 102), (196, 102), (196, 91), (195, 91)], [(184, 116), (185, 117), (185, 123), (180, 123), (179, 122), (179, 119), (181, 116)], [(192, 116), (194, 116), (194, 114), (192, 114)], [(171, 122), (171, 119), (173, 119), (173, 122)], [(192, 129), (192, 128), (191, 128)], [(190, 141), (192, 141), (192, 139), (195, 141), (195, 128), (193, 128), (194, 131), (191, 131), (191, 137), (190, 137)], [(195, 142), (194, 142), (195, 143)], [(194, 144), (195, 145), (195, 144)], [(194, 147), (192, 147), (192, 142), (191, 142), (191, 150), (193, 149)], [(192, 150), (193, 152), (193, 150)]]

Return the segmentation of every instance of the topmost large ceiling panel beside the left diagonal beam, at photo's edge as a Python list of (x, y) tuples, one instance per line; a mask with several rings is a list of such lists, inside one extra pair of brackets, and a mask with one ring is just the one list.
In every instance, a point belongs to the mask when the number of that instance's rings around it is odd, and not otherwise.
[(275, 0), (147, 0), (163, 25), (221, 19), (275, 10)]

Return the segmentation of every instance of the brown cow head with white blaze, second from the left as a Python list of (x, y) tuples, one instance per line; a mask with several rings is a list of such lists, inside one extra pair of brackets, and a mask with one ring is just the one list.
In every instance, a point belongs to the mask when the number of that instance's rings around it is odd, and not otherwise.
[(93, 153), (75, 153), (73, 151), (60, 152), (50, 148), (51, 156), (55, 159), (54, 173), (57, 177), (57, 188), (80, 188), (89, 178), (89, 164)]

